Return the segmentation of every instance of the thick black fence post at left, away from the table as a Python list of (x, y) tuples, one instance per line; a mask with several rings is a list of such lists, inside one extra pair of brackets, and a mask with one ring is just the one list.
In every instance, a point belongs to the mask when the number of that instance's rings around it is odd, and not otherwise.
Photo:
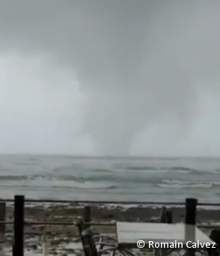
[(24, 195), (15, 195), (13, 209), (13, 256), (24, 256)]

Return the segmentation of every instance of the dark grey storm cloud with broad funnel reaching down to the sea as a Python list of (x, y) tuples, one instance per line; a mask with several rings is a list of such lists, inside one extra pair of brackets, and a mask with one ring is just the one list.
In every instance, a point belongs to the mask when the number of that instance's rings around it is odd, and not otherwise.
[(125, 154), (137, 132), (165, 115), (190, 129), (198, 94), (207, 88), (200, 81), (219, 79), (219, 5), (1, 1), (1, 46), (48, 52), (73, 68), (88, 97), (85, 129), (106, 153)]

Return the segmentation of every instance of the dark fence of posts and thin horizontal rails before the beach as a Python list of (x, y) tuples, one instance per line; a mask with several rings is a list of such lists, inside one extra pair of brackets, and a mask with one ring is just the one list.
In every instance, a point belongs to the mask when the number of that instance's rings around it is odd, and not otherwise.
[[(76, 222), (27, 222), (25, 221), (25, 203), (51, 203), (51, 204), (142, 204), (142, 205), (185, 205), (185, 223), (196, 225), (197, 206), (219, 206), (220, 204), (199, 203), (195, 198), (186, 198), (185, 202), (153, 202), (153, 201), (67, 201), (67, 200), (35, 200), (25, 199), (24, 195), (15, 195), (14, 199), (0, 199), (0, 202), (13, 202), (13, 221), (1, 222), (4, 225), (13, 225), (13, 256), (24, 255), (24, 227), (25, 225), (76, 225)], [(114, 223), (91, 222), (91, 209), (86, 206), (84, 210), (85, 225), (108, 225)], [(218, 225), (198, 225), (198, 228), (216, 228)], [(192, 230), (191, 230), (192, 232)]]

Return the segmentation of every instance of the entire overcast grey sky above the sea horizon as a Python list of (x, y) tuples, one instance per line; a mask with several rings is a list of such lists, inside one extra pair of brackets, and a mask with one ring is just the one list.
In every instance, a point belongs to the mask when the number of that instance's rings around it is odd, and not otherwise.
[(220, 155), (218, 0), (0, 2), (0, 153)]

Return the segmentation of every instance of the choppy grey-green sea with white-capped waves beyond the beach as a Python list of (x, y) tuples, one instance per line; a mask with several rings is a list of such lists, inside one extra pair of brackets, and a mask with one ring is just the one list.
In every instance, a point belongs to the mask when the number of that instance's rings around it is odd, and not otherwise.
[(0, 197), (219, 202), (220, 159), (0, 155)]

